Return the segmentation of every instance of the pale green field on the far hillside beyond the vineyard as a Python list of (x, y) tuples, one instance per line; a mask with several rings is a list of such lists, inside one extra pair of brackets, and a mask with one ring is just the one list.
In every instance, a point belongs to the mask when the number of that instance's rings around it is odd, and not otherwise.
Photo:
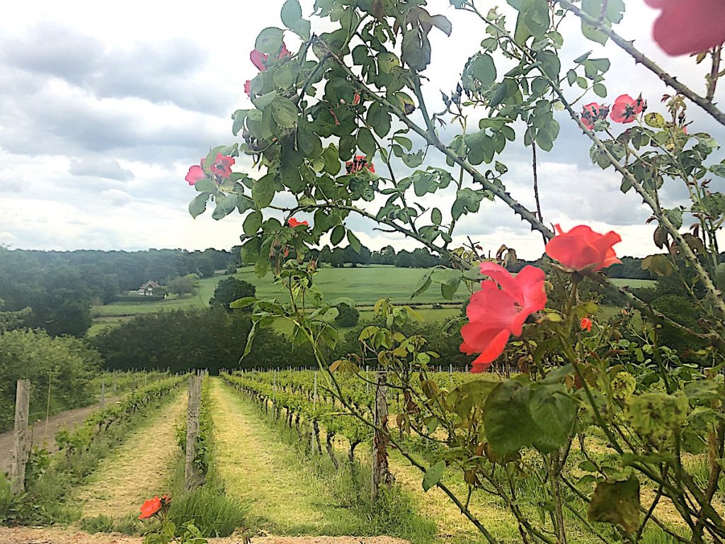
[[(387, 265), (359, 266), (356, 268), (320, 268), (315, 276), (315, 284), (325, 294), (327, 300), (337, 297), (349, 297), (358, 305), (373, 305), (376, 300), (388, 297), (398, 304), (410, 302), (435, 304), (437, 302), (450, 302), (444, 300), (440, 287), (437, 284), (431, 285), (428, 291), (410, 300), (415, 286), (426, 271), (421, 268), (395, 268)], [(239, 268), (236, 278), (249, 281), (257, 288), (257, 297), (273, 298), (283, 300), (286, 292), (280, 284), (272, 283), (272, 276), (258, 278), (254, 268), (247, 266)], [(115, 326), (128, 318), (141, 313), (154, 313), (160, 310), (180, 310), (183, 308), (204, 308), (209, 304), (209, 299), (214, 294), (214, 289), (225, 276), (207, 278), (199, 281), (199, 292), (193, 297), (182, 299), (164, 300), (161, 302), (139, 302), (129, 304), (128, 302), (113, 302), (103, 306), (94, 306), (94, 324), (88, 334), (93, 335), (107, 326)], [(654, 287), (655, 282), (642, 279), (615, 279), (614, 283), (627, 287)], [(469, 296), (468, 289), (461, 284), (455, 300), (463, 302)], [(457, 308), (421, 308), (421, 315), (426, 320), (450, 319), (457, 315)], [(363, 309), (360, 312), (362, 318), (368, 318), (372, 312)]]

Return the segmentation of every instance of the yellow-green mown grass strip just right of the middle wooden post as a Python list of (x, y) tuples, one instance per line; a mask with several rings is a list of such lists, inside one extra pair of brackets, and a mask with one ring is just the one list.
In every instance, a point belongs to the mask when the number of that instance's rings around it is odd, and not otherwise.
[(249, 503), (257, 529), (287, 535), (354, 535), (363, 529), (365, 520), (337, 507), (325, 482), (305, 470), (256, 406), (218, 378), (211, 394), (218, 470), (226, 493)]

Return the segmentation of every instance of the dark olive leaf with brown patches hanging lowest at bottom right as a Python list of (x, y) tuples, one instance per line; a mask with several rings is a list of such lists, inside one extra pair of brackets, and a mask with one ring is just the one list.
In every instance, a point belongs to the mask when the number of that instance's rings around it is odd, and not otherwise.
[(631, 475), (621, 482), (599, 482), (589, 503), (590, 522), (618, 524), (632, 533), (639, 526), (639, 481)]

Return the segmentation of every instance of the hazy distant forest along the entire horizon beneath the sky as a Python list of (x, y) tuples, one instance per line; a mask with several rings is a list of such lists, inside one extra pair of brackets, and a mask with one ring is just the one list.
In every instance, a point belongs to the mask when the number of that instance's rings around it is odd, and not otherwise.
[[(363, 246), (359, 253), (351, 247), (331, 249), (324, 246), (313, 251), (310, 258), (335, 267), (383, 264), (430, 268), (450, 264), (423, 248), (396, 251), (392, 246), (379, 251)], [(623, 257), (622, 261), (621, 265), (608, 269), (608, 276), (650, 279), (649, 272), (642, 270), (641, 259)], [(91, 325), (91, 305), (114, 302), (124, 292), (136, 290), (150, 279), (165, 284), (191, 273), (200, 278), (210, 278), (217, 271), (233, 273), (241, 264), (239, 246), (230, 251), (208, 249), (191, 252), (59, 252), (0, 247), (0, 310), (30, 308), (23, 319), (25, 326), (45, 329), (51, 336), (72, 334), (81, 337)], [(531, 263), (519, 260), (509, 268), (518, 271), (526, 264)]]

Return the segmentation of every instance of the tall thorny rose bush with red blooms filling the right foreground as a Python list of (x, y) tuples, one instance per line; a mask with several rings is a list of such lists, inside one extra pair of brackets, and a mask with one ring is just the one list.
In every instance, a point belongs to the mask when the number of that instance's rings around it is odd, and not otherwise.
[[(376, 361), (402, 392), (400, 434), (368, 421), (356, 400), (337, 390), (341, 410), (384, 434), (423, 471), (424, 487), (446, 493), (490, 544), (498, 539), (489, 521), (465, 498), (474, 491), (508, 508), (525, 543), (565, 544), (582, 534), (603, 542), (725, 540), (725, 521), (713, 506), (725, 448), (725, 387), (717, 377), (725, 365), (718, 245), (725, 196), (716, 183), (725, 177), (725, 160), (705, 131), (708, 122), (725, 125), (725, 112), (714, 100), (723, 75), (719, 20), (703, 22), (701, 9), (713, 4), (650, 1), (662, 10), (655, 40), (667, 51), (707, 49), (693, 59), (708, 59), (703, 94), (618, 35), (622, 0), (450, 4), (482, 33), (454, 84), (436, 82), (429, 70), (431, 38), (450, 35), (452, 24), (421, 0), (316, 0), (320, 33), (312, 33), (297, 0), (286, 0), (284, 28), (257, 37), (252, 107), (233, 115), (239, 139), (211, 149), (187, 180), (198, 193), (189, 206), (194, 217), (209, 205), (215, 219), (246, 214), (245, 262), (260, 276), (273, 273), (289, 294), (282, 302), (239, 301), (252, 306), (255, 323), (245, 355), (257, 329), (285, 319), (333, 390), (336, 374), (363, 378), (358, 363)], [(665, 36), (658, 29), (673, 24), (673, 14), (684, 29), (702, 25), (703, 36)], [(576, 25), (563, 24), (569, 20)], [(674, 90), (659, 111), (648, 110), (641, 94), (621, 94), (610, 107), (592, 102), (592, 94), (608, 96), (610, 60), (585, 52), (592, 48), (569, 40), (564, 28), (621, 48)], [(291, 34), (299, 47), (282, 54)], [(434, 86), (435, 101), (427, 86)], [(438, 102), (439, 88), (448, 90)], [(698, 118), (697, 128), (689, 125), (692, 107), (708, 116)], [(618, 263), (618, 234), (588, 226), (552, 231), (544, 221), (537, 157), (554, 147), (560, 123), (583, 129), (592, 163), (613, 173), (633, 207), (650, 210), (656, 250), (645, 268), (676, 279), (699, 319), (674, 321), (607, 279), (608, 266)], [(505, 151), (514, 141), (531, 151), (535, 210), (507, 187)], [(246, 157), (255, 173), (230, 171), (219, 157)], [(674, 191), (664, 191), (665, 184)], [(672, 197), (681, 193), (689, 202)], [(460, 234), (461, 222), (494, 199), (542, 236), (554, 260), (545, 263), (546, 275), (529, 268), (510, 276), (497, 265), (515, 263), (515, 251), (502, 246), (486, 259)], [(294, 219), (300, 214), (309, 214), (306, 228)], [(478, 354), (476, 371), (504, 353), (519, 374), (436, 384), (428, 370), (438, 354), (421, 335), (402, 332), (414, 311), (385, 299), (376, 304), (380, 323), (360, 332), (362, 355), (328, 360), (338, 310), (315, 284), (310, 250), (345, 241), (359, 250), (351, 216), (445, 257), (450, 267), (423, 273), (413, 296), (434, 284), (448, 299), (470, 289), (468, 320), (450, 324), (462, 326), (461, 349)], [(481, 273), (490, 279), (481, 282)], [(557, 296), (547, 297), (544, 288)], [(605, 318), (595, 289), (627, 308)], [(690, 354), (697, 365), (683, 365), (676, 350), (662, 345), (664, 327), (697, 339), (703, 349)], [(421, 443), (426, 463), (410, 452)], [(445, 472), (460, 476), (457, 485), (447, 485)], [(663, 501), (681, 524), (663, 521)]]

